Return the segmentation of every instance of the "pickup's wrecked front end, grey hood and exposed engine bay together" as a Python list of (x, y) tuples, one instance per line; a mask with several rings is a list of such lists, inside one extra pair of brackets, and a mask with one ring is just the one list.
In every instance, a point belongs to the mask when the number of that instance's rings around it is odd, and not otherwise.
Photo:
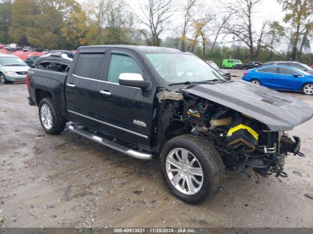
[[(287, 177), (285, 157), (300, 152), (300, 138), (288, 136), (313, 117), (303, 101), (267, 88), (240, 82), (192, 84), (175, 92), (157, 94), (167, 136), (180, 132), (201, 136), (219, 151), (225, 167), (252, 179), (258, 175)], [(166, 121), (165, 121), (166, 122)]]

